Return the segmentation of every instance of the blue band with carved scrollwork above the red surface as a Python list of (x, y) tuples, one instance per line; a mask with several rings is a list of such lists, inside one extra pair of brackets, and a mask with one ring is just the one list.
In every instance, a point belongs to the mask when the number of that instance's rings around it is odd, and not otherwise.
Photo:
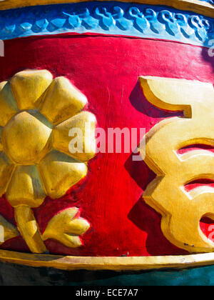
[(214, 19), (165, 6), (86, 2), (0, 11), (0, 39), (61, 34), (116, 34), (208, 46)]

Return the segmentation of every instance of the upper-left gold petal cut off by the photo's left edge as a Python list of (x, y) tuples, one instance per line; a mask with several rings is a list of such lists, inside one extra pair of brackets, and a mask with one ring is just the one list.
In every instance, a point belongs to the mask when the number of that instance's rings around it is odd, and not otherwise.
[(0, 83), (0, 126), (5, 126), (6, 123), (18, 111), (14, 95), (11, 91), (9, 82)]

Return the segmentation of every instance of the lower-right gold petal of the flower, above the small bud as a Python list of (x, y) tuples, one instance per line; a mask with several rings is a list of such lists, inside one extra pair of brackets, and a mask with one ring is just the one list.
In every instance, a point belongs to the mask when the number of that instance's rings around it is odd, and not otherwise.
[(86, 164), (53, 150), (41, 161), (39, 171), (47, 194), (58, 199), (86, 176), (88, 168)]

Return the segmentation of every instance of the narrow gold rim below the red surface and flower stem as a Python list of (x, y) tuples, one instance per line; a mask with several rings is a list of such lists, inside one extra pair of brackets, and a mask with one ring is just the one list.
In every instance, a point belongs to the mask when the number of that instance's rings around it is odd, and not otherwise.
[(214, 253), (186, 256), (141, 257), (77, 257), (44, 254), (24, 254), (0, 250), (0, 261), (25, 266), (49, 267), (62, 270), (139, 271), (152, 269), (185, 269), (214, 264)]

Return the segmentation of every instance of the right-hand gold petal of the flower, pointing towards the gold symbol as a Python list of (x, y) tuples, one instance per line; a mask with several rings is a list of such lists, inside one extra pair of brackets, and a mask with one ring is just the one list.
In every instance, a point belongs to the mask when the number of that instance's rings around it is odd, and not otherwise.
[[(76, 153), (73, 153), (73, 149), (69, 147), (72, 139), (71, 135), (73, 136), (72, 132), (71, 134), (69, 133), (72, 129), (75, 129), (74, 131), (80, 129), (81, 132), (81, 135), (78, 137), (81, 149), (78, 149)], [(96, 154), (95, 129), (95, 116), (88, 111), (83, 111), (56, 126), (53, 131), (53, 146), (58, 151), (62, 151), (79, 161), (88, 161)], [(74, 144), (76, 144), (76, 141)]]

